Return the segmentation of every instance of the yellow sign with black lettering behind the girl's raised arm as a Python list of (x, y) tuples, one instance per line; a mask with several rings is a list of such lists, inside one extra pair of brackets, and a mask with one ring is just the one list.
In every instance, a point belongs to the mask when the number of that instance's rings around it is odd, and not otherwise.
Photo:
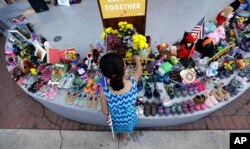
[[(135, 62), (133, 58), (124, 58), (124, 63), (126, 64), (127, 73), (132, 75), (136, 69)], [(151, 75), (151, 72), (148, 70), (148, 65), (154, 62), (154, 59), (149, 58), (141, 58), (141, 65), (142, 65), (142, 75)]]

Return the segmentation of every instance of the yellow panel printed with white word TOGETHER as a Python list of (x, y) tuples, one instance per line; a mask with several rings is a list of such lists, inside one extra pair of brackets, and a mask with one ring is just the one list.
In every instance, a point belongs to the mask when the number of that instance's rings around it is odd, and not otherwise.
[(103, 19), (144, 16), (146, 0), (99, 0)]

